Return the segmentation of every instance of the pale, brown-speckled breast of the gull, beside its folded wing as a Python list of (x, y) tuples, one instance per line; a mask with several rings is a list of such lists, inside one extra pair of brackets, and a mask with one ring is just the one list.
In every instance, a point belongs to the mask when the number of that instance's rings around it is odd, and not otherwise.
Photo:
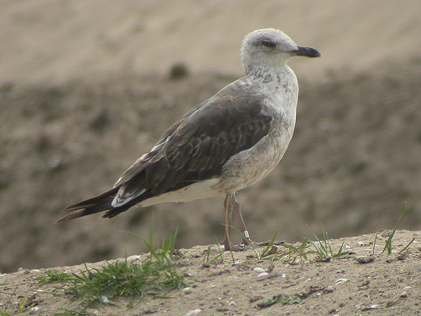
[(225, 192), (241, 190), (265, 178), (279, 162), (293, 137), (298, 101), (297, 79), (292, 72), (260, 87), (262, 113), (272, 117), (269, 133), (248, 150), (231, 157), (222, 170)]

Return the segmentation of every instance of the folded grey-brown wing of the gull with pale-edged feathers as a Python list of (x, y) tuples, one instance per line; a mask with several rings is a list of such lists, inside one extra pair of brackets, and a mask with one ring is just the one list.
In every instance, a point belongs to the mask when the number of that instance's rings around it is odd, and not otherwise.
[(151, 152), (123, 173), (112, 206), (217, 177), (229, 157), (267, 135), (271, 117), (262, 113), (264, 99), (236, 95), (229, 86), (224, 90), (175, 122)]

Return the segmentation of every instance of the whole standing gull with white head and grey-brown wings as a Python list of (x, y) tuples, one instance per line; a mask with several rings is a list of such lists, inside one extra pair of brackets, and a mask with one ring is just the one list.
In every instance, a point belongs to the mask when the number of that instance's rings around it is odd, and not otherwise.
[(250, 235), (236, 192), (258, 183), (281, 161), (293, 137), (298, 81), (286, 63), (320, 57), (277, 29), (258, 29), (241, 44), (245, 76), (222, 88), (167, 129), (112, 189), (67, 206), (56, 223), (105, 212), (113, 218), (133, 206), (225, 196), (225, 250), (232, 250), (232, 212)]

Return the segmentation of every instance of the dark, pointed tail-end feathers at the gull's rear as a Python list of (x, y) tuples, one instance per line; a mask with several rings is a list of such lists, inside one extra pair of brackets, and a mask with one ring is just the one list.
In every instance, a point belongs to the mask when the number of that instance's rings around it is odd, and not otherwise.
[(112, 200), (118, 191), (119, 187), (113, 187), (111, 190), (103, 192), (96, 197), (91, 197), (90, 199), (85, 199), (79, 203), (67, 206), (63, 211), (72, 213), (69, 213), (69, 215), (56, 220), (55, 223), (62, 223), (66, 220), (72, 220), (74, 218), (88, 216), (103, 211), (107, 213), (105, 213), (102, 217), (112, 218), (119, 213), (128, 210), (131, 206), (133, 206), (133, 204), (130, 206), (123, 205), (116, 209), (111, 206)]

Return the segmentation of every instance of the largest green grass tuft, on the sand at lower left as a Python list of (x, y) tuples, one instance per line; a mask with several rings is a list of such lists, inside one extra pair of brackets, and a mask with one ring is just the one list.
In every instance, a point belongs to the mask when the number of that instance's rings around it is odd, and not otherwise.
[(125, 260), (107, 263), (101, 268), (88, 268), (85, 263), (85, 270), (79, 274), (47, 270), (45, 276), (36, 279), (41, 284), (60, 282), (60, 288), (65, 289), (67, 294), (83, 299), (88, 305), (95, 302), (112, 305), (108, 298), (130, 298), (132, 305), (135, 298), (168, 297), (166, 295), (172, 289), (187, 286), (175, 270), (173, 253), (176, 235), (177, 230), (156, 250), (152, 247), (152, 237), (149, 237), (149, 242), (145, 241), (145, 244), (151, 257), (142, 264)]

